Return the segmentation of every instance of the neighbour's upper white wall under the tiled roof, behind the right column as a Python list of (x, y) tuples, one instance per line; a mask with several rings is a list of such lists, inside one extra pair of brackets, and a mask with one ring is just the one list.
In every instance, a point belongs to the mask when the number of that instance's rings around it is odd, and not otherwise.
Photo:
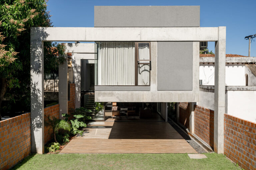
[[(203, 85), (214, 85), (213, 63), (200, 63), (199, 80)], [(245, 86), (245, 64), (226, 63), (226, 86)]]

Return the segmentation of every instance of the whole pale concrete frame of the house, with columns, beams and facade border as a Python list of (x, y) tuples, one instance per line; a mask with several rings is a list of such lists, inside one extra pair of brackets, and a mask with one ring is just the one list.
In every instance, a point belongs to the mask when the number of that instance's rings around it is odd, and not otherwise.
[[(223, 153), (223, 115), (225, 112), (225, 43), (226, 28), (212, 27), (98, 27), (98, 28), (31, 28), (31, 144), (32, 151), (44, 153), (43, 110), (43, 42), (44, 41), (134, 41), (151, 42), (151, 75), (149, 91), (95, 91), (95, 101), (110, 102), (197, 102), (199, 101), (199, 41), (216, 41), (215, 47), (215, 112), (217, 113), (214, 148)], [(157, 90), (158, 42), (192, 41), (192, 90)], [(76, 108), (81, 98), (81, 59), (94, 59), (95, 46), (67, 44), (72, 52), (76, 84)], [(85, 44), (83, 44), (85, 45)], [(85, 45), (87, 46), (87, 45)], [(83, 49), (85, 51), (83, 51)], [(77, 52), (79, 51), (79, 52)], [(224, 67), (223, 67), (224, 61)], [(186, 61), (184, 61), (186, 62)], [(224, 79), (223, 79), (224, 77)], [(224, 103), (224, 105), (223, 105)], [(166, 105), (166, 104), (165, 104)], [(166, 114), (165, 114), (166, 115)], [(219, 128), (218, 128), (219, 126)], [(223, 126), (222, 126), (223, 128)]]

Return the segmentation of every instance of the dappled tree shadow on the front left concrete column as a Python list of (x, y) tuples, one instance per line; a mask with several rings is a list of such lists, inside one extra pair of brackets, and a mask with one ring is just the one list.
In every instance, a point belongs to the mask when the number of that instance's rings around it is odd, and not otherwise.
[[(46, 28), (31, 28), (30, 29), (30, 86), (31, 86), (31, 144), (32, 152), (35, 152), (36, 141), (34, 132), (43, 128), (43, 40), (49, 36), (46, 33)], [(40, 37), (39, 37), (40, 36)], [(41, 80), (38, 81), (38, 80)]]

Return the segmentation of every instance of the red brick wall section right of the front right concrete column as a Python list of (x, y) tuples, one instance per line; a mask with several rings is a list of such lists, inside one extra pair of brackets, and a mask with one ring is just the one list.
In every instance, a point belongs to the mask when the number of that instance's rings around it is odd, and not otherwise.
[(224, 154), (243, 169), (256, 170), (256, 124), (225, 114)]

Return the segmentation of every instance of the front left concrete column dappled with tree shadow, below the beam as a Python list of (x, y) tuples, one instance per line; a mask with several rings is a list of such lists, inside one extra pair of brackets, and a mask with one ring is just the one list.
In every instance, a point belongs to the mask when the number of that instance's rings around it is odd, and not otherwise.
[[(33, 34), (31, 32), (31, 37)], [(30, 40), (31, 152), (44, 153), (44, 43)]]

